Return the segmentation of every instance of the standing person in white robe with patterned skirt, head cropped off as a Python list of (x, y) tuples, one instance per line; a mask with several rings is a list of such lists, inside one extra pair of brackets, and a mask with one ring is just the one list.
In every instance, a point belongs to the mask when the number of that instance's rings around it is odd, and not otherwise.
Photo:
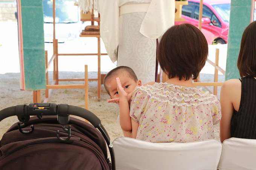
[(155, 81), (157, 39), (174, 25), (175, 0), (99, 0), (100, 34), (117, 66)]

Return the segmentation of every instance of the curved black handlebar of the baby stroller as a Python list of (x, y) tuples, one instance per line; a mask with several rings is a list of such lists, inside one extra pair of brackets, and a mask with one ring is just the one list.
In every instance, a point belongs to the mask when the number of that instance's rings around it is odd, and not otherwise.
[(104, 136), (107, 144), (111, 143), (101, 120), (91, 111), (78, 106), (55, 103), (30, 103), (28, 105), (16, 105), (0, 110), (0, 122), (11, 116), (17, 116), (20, 122), (26, 123), (30, 116), (42, 117), (45, 115), (57, 115), (60, 124), (65, 125), (69, 122), (69, 115), (82, 117), (90, 122)]

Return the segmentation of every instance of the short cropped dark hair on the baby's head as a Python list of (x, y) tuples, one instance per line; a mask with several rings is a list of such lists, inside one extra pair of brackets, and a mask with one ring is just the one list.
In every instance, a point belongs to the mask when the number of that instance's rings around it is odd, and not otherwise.
[(107, 91), (108, 95), (110, 95), (109, 90), (108, 90), (108, 88), (109, 88), (108, 83), (114, 77), (116, 77), (117, 75), (120, 75), (120, 74), (129, 76), (135, 82), (138, 81), (138, 78), (137, 78), (135, 72), (133, 71), (133, 69), (131, 69), (128, 66), (118, 66), (118, 67), (112, 69), (110, 72), (108, 72), (104, 78), (104, 87), (105, 87), (105, 90)]

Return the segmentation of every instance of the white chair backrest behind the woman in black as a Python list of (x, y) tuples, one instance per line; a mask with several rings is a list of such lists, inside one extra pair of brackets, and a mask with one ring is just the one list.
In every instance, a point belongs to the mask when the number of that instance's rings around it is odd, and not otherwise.
[(256, 139), (229, 138), (224, 140), (219, 170), (255, 170)]

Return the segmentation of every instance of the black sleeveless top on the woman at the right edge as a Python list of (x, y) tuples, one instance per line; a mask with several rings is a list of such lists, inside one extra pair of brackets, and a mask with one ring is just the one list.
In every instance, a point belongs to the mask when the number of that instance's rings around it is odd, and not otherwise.
[(243, 77), (241, 82), (241, 101), (231, 118), (231, 137), (256, 139), (256, 79)]

